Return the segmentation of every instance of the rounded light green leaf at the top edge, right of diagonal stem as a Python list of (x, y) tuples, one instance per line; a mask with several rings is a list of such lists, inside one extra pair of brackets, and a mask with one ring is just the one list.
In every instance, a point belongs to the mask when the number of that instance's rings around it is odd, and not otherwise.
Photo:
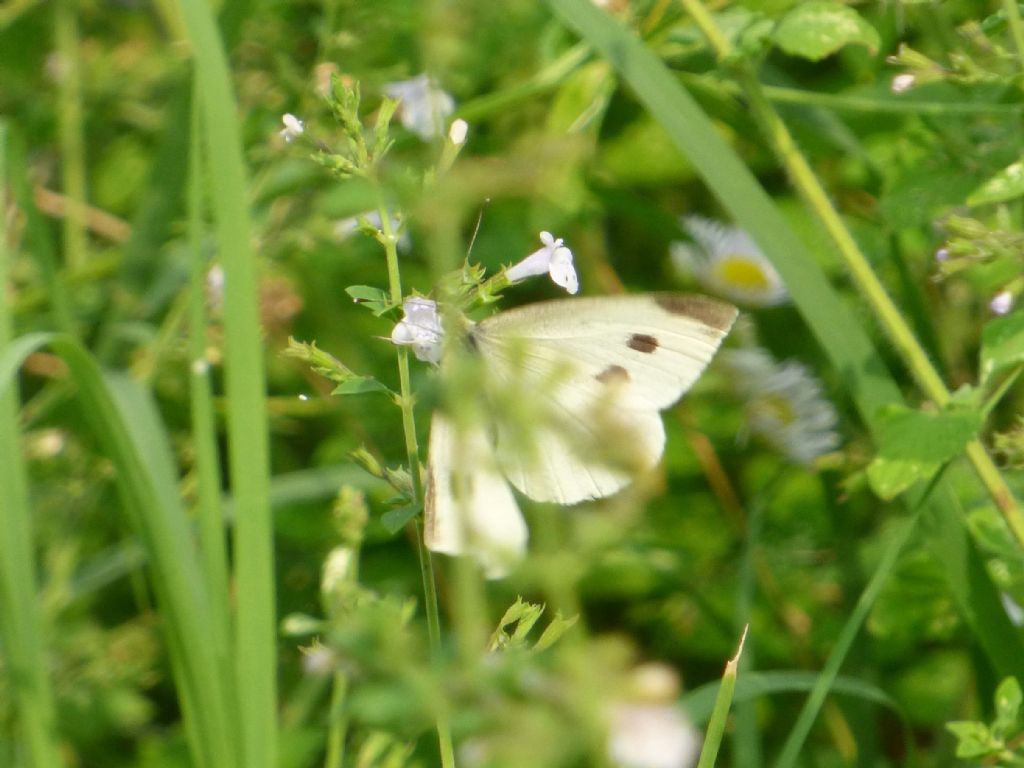
[(879, 33), (853, 8), (817, 0), (800, 3), (775, 28), (775, 44), (786, 53), (819, 61), (847, 45), (864, 45), (874, 53)]

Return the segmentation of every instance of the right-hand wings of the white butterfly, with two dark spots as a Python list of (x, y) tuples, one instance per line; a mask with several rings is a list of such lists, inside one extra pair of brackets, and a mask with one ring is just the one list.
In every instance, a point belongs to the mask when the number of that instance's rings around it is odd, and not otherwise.
[(497, 420), (506, 476), (561, 504), (628, 484), (657, 462), (658, 412), (697, 379), (735, 314), (703, 297), (649, 294), (530, 304), (479, 324), (472, 337), (485, 370), (534, 399), (529, 446)]

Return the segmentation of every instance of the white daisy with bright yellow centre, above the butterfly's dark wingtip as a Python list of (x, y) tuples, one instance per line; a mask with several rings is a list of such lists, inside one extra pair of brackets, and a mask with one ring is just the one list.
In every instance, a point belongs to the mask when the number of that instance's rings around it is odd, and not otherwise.
[(782, 279), (750, 234), (702, 216), (682, 223), (693, 243), (673, 243), (672, 260), (706, 290), (753, 307), (788, 301)]

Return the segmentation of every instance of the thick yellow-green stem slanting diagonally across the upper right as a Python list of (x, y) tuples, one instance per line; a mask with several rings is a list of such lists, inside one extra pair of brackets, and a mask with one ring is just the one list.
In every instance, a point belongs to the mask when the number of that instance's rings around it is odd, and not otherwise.
[[(735, 57), (729, 42), (700, 0), (680, 0), (680, 2), (708, 39), (718, 58), (727, 62), (732, 69), (755, 118), (760, 123), (768, 142), (775, 150), (779, 162), (785, 168), (790, 181), (828, 233), (851, 278), (871, 307), (889, 340), (899, 350), (919, 388), (935, 404), (940, 408), (945, 406), (950, 395), (942, 377), (914, 338), (910, 327), (903, 319), (903, 315), (871, 269), (867, 258), (843, 223), (839, 211), (833, 206), (793, 135), (768, 100), (754, 67), (746, 59)], [(1018, 543), (1024, 547), (1024, 513), (1021, 512), (1010, 486), (979, 440), (975, 439), (968, 443), (966, 453)]]

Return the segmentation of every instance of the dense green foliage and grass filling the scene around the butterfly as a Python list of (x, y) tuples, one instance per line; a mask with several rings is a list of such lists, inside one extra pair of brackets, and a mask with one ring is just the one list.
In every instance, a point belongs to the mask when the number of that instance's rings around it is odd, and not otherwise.
[[(0, 765), (625, 765), (623, 702), (739, 768), (1024, 761), (1021, 10), (602, 6), (0, 7)], [(422, 547), (459, 393), (389, 337), (564, 295), (502, 281), (542, 230), (743, 312), (487, 581)]]

